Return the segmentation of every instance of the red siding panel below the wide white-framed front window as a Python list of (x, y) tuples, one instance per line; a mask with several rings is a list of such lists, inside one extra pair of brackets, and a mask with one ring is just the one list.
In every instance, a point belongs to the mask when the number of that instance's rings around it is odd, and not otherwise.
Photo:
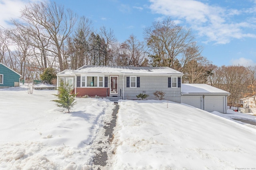
[(93, 97), (97, 95), (99, 97), (106, 97), (107, 91), (109, 96), (109, 88), (76, 88), (76, 96), (82, 97), (88, 95), (90, 97)]

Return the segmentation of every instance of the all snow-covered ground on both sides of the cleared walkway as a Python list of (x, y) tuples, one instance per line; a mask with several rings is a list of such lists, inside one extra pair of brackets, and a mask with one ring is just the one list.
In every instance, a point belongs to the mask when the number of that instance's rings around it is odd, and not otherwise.
[[(104, 138), (113, 102), (77, 98), (71, 113), (54, 90), (0, 89), (0, 169), (86, 170)], [(256, 129), (232, 118), (159, 100), (121, 100), (105, 169), (256, 168)], [(239, 122), (239, 123), (238, 123)], [(104, 145), (104, 144), (102, 144)], [(104, 169), (104, 168), (103, 168)]]

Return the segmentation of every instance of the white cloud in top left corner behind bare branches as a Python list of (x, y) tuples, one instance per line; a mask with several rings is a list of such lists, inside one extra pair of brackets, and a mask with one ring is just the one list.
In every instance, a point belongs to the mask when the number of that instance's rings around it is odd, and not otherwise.
[(29, 2), (40, 2), (42, 0), (0, 0), (0, 26), (9, 27), (10, 19), (17, 19), (20, 10)]

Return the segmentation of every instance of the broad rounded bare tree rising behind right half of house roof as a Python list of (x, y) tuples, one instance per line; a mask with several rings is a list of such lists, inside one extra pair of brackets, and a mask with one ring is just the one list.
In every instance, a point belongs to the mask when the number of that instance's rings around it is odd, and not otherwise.
[(176, 25), (170, 18), (154, 22), (151, 27), (145, 29), (144, 34), (158, 66), (171, 68), (174, 68), (174, 59), (194, 41), (190, 29)]

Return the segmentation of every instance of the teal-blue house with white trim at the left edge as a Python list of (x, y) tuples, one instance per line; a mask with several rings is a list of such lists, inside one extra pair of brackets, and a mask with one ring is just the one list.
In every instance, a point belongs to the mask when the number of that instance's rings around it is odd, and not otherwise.
[(18, 72), (0, 63), (0, 88), (20, 86), (21, 77)]

